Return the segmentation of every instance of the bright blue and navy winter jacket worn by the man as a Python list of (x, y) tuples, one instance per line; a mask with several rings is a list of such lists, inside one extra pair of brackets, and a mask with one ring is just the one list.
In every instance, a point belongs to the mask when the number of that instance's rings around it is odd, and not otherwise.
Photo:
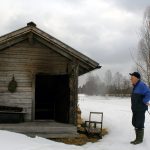
[(146, 105), (150, 101), (150, 89), (142, 81), (138, 81), (134, 85), (131, 95), (131, 109), (133, 111), (144, 111), (148, 109)]

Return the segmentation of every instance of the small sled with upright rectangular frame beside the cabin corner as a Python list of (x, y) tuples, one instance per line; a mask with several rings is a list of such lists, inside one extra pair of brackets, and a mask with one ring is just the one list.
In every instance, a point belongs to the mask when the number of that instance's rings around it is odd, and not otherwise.
[[(99, 117), (99, 121), (94, 119), (93, 116)], [(90, 112), (89, 121), (85, 121), (85, 130), (89, 137), (98, 137), (102, 139), (103, 127), (103, 112)]]

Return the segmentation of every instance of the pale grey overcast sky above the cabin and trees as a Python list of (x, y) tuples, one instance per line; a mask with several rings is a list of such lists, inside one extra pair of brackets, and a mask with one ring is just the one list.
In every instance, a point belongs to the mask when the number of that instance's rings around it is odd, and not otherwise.
[(0, 35), (37, 27), (96, 60), (100, 71), (133, 71), (130, 51), (140, 39), (150, 0), (1, 0)]

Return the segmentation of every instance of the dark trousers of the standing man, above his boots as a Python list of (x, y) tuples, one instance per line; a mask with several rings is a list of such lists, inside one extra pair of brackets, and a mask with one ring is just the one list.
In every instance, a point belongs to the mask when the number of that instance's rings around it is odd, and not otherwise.
[(132, 111), (132, 125), (137, 129), (143, 129), (145, 123), (145, 110)]

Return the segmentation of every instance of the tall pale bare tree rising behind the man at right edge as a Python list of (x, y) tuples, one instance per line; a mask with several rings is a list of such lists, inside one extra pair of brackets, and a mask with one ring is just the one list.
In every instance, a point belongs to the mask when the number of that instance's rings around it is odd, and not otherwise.
[(150, 7), (146, 9), (144, 14), (138, 50), (137, 70), (142, 73), (143, 80), (150, 86)]

